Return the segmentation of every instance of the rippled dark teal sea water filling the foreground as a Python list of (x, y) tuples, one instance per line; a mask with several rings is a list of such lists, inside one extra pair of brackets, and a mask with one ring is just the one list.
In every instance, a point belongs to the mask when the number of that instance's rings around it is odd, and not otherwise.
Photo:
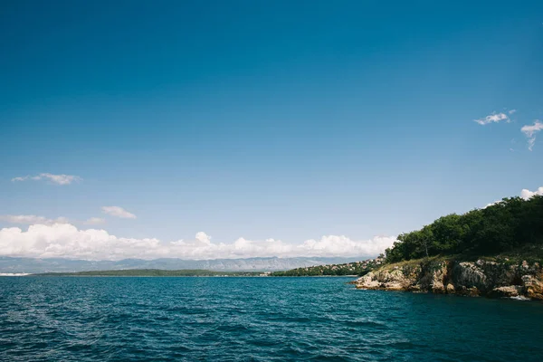
[(350, 280), (0, 278), (0, 360), (542, 359), (542, 303)]

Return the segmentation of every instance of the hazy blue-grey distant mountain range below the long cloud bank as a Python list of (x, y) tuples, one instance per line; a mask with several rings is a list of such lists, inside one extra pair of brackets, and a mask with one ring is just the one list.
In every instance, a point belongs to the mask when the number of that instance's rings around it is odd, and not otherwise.
[(113, 271), (123, 269), (205, 269), (209, 271), (286, 271), (315, 265), (357, 262), (357, 258), (248, 258), (248, 259), (124, 259), (120, 261), (85, 261), (62, 258), (33, 259), (0, 256), (0, 273)]

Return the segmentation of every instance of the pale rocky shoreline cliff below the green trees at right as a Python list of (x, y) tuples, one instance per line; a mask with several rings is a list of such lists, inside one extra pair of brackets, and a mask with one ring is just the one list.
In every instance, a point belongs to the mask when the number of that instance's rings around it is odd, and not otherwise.
[(412, 261), (384, 265), (355, 281), (357, 289), (543, 300), (538, 262)]

